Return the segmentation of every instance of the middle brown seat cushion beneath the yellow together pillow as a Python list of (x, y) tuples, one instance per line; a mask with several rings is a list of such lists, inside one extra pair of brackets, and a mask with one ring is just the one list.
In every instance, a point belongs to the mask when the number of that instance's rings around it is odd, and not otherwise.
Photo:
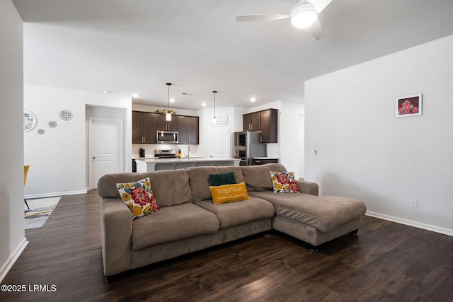
[(270, 219), (275, 214), (275, 208), (270, 202), (256, 197), (225, 204), (214, 204), (212, 199), (202, 200), (196, 204), (215, 214), (220, 221), (220, 228), (237, 226), (260, 219)]

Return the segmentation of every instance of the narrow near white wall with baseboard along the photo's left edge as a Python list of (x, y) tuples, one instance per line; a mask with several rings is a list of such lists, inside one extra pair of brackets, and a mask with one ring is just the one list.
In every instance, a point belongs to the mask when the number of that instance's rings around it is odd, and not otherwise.
[(0, 1), (0, 282), (27, 244), (23, 219), (23, 23)]

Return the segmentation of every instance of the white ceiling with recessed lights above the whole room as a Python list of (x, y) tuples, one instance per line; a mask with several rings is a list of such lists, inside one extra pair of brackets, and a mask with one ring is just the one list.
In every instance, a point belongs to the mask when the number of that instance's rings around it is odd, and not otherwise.
[[(289, 19), (297, 0), (13, 0), (24, 24), (25, 83), (139, 93), (172, 108), (303, 102), (304, 81), (453, 35), (453, 0), (333, 0), (315, 40)], [(379, 83), (376, 83), (379, 85)], [(192, 93), (193, 95), (181, 95)], [(255, 96), (256, 103), (248, 98)]]

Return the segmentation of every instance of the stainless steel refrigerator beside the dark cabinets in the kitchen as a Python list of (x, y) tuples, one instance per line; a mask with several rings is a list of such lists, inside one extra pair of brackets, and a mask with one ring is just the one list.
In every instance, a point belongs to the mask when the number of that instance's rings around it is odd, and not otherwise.
[(239, 165), (253, 165), (254, 157), (266, 156), (266, 144), (260, 143), (261, 132), (234, 132), (233, 156), (241, 158)]

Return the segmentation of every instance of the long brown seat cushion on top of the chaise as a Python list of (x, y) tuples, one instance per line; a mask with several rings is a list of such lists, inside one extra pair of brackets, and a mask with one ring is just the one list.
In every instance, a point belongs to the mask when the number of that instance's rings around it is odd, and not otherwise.
[(311, 194), (275, 194), (272, 191), (250, 192), (271, 202), (275, 214), (328, 232), (365, 214), (365, 204), (357, 199)]

